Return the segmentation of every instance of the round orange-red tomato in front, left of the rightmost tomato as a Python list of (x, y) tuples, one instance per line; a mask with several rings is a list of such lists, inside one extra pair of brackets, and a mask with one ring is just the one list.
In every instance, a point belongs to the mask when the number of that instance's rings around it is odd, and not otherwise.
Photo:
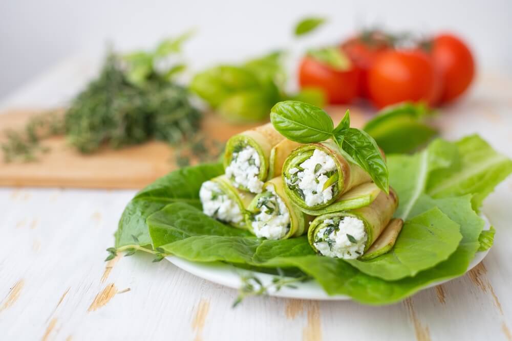
[(377, 107), (403, 101), (439, 98), (440, 75), (431, 56), (420, 49), (390, 50), (380, 54), (368, 72), (370, 100)]

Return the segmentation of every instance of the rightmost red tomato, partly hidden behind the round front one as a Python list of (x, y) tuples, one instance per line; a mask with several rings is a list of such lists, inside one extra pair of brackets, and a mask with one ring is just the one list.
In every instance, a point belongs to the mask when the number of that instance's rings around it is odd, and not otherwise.
[(441, 73), (441, 102), (449, 102), (470, 86), (475, 76), (475, 61), (466, 44), (451, 34), (440, 34), (432, 40), (432, 57)]

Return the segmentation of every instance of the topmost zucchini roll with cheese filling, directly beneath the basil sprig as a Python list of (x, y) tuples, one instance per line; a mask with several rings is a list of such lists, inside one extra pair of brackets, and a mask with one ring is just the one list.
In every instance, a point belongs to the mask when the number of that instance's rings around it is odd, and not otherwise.
[(283, 166), (286, 193), (303, 209), (329, 206), (351, 188), (371, 181), (331, 140), (296, 148)]

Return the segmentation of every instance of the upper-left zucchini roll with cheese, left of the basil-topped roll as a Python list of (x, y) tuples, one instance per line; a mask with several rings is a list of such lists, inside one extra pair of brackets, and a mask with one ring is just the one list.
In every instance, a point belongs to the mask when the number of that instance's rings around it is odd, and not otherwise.
[(235, 187), (260, 193), (267, 180), (271, 150), (283, 139), (271, 123), (234, 135), (224, 153), (226, 176)]

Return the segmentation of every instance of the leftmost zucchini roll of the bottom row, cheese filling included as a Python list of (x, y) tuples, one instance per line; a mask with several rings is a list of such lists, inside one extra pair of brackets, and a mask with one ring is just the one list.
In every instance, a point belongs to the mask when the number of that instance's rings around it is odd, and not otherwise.
[(225, 175), (205, 181), (199, 190), (203, 212), (213, 218), (245, 229), (244, 211), (254, 194), (233, 187)]

